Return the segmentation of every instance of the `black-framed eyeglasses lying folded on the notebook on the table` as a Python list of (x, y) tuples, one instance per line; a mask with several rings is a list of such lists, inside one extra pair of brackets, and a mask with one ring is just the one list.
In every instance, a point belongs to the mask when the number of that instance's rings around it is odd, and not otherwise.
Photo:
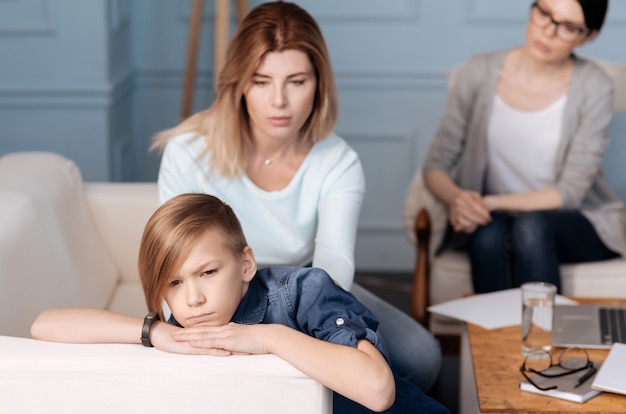
[[(558, 369), (554, 369), (554, 367), (558, 367)], [(534, 351), (533, 354), (524, 358), (520, 372), (534, 387), (542, 391), (549, 391), (557, 389), (558, 386), (538, 385), (528, 374), (536, 374), (545, 378), (557, 378), (585, 371), (585, 373), (581, 375), (582, 377), (593, 368), (593, 362), (589, 359), (589, 354), (586, 350), (583, 348), (567, 348), (561, 352), (558, 363), (556, 364), (552, 362), (552, 354), (549, 351)]]

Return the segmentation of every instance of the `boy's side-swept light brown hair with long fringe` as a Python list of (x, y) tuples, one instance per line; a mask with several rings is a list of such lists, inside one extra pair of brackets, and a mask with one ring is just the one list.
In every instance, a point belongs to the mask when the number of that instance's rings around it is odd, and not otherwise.
[(162, 301), (170, 277), (189, 256), (200, 236), (216, 229), (224, 246), (239, 257), (248, 245), (232, 208), (208, 194), (181, 194), (159, 207), (143, 232), (139, 275), (149, 311), (163, 320)]

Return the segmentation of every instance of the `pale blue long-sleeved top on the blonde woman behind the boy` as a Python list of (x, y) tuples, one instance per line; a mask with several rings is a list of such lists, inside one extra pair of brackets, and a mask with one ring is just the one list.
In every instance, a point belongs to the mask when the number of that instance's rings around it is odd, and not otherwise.
[(312, 263), (344, 289), (354, 279), (356, 227), (365, 192), (357, 153), (340, 137), (317, 142), (292, 181), (265, 191), (247, 176), (224, 178), (198, 157), (204, 138), (193, 133), (170, 141), (159, 170), (161, 203), (182, 193), (205, 193), (229, 204), (259, 266)]

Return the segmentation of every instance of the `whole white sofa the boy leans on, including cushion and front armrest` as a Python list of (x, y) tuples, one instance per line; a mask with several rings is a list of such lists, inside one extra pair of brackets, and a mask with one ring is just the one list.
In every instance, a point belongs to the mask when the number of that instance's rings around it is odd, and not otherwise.
[(146, 314), (137, 253), (157, 204), (155, 183), (83, 183), (52, 153), (0, 157), (0, 413), (331, 412), (330, 390), (274, 355), (30, 339), (48, 308)]

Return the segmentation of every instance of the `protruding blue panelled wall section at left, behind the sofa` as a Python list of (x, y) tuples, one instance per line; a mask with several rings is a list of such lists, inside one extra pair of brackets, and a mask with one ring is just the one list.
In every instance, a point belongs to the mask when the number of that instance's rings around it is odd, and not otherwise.
[[(86, 179), (133, 178), (124, 174), (130, 157), (113, 160), (128, 155), (120, 142), (133, 141), (124, 119), (133, 89), (125, 3), (0, 2), (0, 124), (11, 126), (0, 131), (0, 154), (56, 151), (75, 160)], [(120, 102), (126, 111), (116, 108)]]

